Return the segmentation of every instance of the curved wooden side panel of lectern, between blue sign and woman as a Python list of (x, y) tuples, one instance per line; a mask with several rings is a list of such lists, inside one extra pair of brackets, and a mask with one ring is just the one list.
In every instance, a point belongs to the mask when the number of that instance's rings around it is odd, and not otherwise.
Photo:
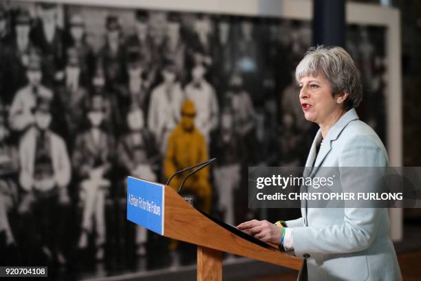
[(165, 187), (164, 236), (299, 270), (302, 260), (274, 247), (266, 249), (220, 227)]

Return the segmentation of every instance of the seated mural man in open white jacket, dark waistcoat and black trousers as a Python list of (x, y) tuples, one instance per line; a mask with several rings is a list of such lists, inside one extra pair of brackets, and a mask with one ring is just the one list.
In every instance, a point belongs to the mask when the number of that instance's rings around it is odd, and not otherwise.
[(61, 237), (70, 202), (67, 185), (72, 166), (63, 138), (50, 130), (50, 105), (50, 98), (36, 98), (32, 109), (35, 125), (19, 145), (19, 183), (24, 192), (19, 211), (28, 219), (28, 239), (40, 245), (48, 259), (64, 264)]

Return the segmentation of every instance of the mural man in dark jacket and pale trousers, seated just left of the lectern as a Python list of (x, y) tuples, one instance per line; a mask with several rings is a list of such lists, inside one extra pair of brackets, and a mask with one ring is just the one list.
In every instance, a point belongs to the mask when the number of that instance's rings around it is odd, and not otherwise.
[(109, 171), (114, 157), (114, 139), (101, 127), (106, 106), (106, 101), (100, 94), (91, 97), (87, 111), (90, 126), (86, 132), (76, 137), (72, 157), (83, 204), (78, 249), (86, 249), (89, 236), (94, 235), (96, 260), (105, 257), (105, 198), (111, 186)]

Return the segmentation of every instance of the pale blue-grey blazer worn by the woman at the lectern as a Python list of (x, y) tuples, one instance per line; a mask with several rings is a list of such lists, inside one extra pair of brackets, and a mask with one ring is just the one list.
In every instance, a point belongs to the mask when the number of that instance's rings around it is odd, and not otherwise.
[[(312, 167), (311, 177), (317, 176), (319, 167), (388, 165), (382, 141), (369, 125), (359, 120), (354, 109), (330, 129), (316, 157), (321, 137), (319, 129), (305, 164)], [(355, 183), (363, 180), (356, 178)], [(363, 184), (370, 186), (367, 181)], [(302, 204), (301, 215), (286, 224), (293, 228), (295, 255), (307, 260), (308, 280), (402, 280), (389, 238), (387, 209), (322, 209), (305, 208)]]

